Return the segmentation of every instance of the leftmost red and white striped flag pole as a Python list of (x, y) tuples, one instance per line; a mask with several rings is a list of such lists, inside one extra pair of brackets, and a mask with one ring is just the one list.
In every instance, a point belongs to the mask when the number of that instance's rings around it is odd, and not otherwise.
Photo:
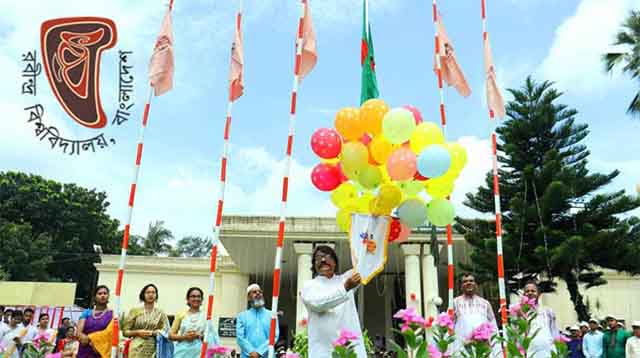
[(116, 278), (116, 303), (113, 310), (113, 336), (111, 340), (111, 358), (118, 356), (118, 346), (120, 344), (120, 309), (121, 309), (121, 293), (122, 280), (124, 278), (125, 262), (127, 260), (127, 249), (129, 248), (129, 231), (131, 230), (131, 217), (133, 215), (133, 204), (136, 197), (136, 187), (140, 178), (140, 164), (142, 162), (142, 148), (144, 145), (144, 132), (147, 128), (149, 120), (149, 109), (151, 108), (151, 98), (153, 97), (153, 87), (149, 85), (149, 94), (147, 103), (144, 105), (144, 114), (142, 115), (142, 125), (140, 126), (140, 134), (138, 136), (138, 145), (136, 147), (136, 159), (133, 166), (133, 181), (129, 189), (129, 201), (127, 204), (127, 219), (124, 225), (124, 236), (122, 237), (122, 248), (120, 251), (120, 266), (118, 267), (118, 276)]

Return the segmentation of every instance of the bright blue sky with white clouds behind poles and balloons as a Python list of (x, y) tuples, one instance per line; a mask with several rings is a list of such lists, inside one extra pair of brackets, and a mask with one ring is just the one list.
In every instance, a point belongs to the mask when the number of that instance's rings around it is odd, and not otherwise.
[[(500, 86), (520, 87), (529, 75), (554, 81), (564, 92), (560, 101), (578, 110), (577, 122), (590, 126), (585, 140), (592, 153), (590, 168), (619, 169), (621, 175), (607, 190), (635, 193), (640, 182), (640, 121), (625, 111), (637, 83), (618, 73), (605, 74), (600, 56), (611, 49), (620, 23), (630, 9), (640, 8), (640, 0), (488, 3)], [(111, 203), (109, 213), (123, 222), (148, 93), (147, 64), (167, 1), (69, 0), (64, 4), (0, 0), (0, 171), (34, 173), (105, 191)], [(315, 129), (333, 126), (338, 109), (359, 104), (361, 1), (311, 0), (310, 6), (319, 60), (298, 93), (287, 214), (333, 216), (329, 195), (310, 182), (317, 158), (309, 141)], [(370, 0), (369, 7), (381, 98), (392, 107), (412, 104), (426, 120), (439, 121), (431, 2)], [(477, 216), (462, 200), (482, 184), (491, 166), (480, 0), (441, 0), (438, 7), (473, 91), (467, 99), (453, 90), (445, 93), (447, 138), (459, 141), (469, 154), (452, 200), (459, 215)], [(237, 8), (238, 2), (232, 0), (175, 0), (175, 83), (171, 92), (151, 103), (132, 221), (135, 234), (145, 234), (156, 220), (164, 221), (176, 238), (212, 233)], [(244, 1), (245, 94), (233, 108), (225, 214), (278, 215), (298, 10), (293, 0)], [(118, 50), (134, 52), (130, 58), (136, 76), (132, 118), (106, 129), (117, 144), (81, 156), (51, 150), (46, 141), (38, 141), (23, 111), (34, 98), (20, 95), (20, 56), (39, 47), (40, 24), (71, 16), (101, 16), (116, 22), (118, 43), (102, 56), (101, 94), (108, 116), (116, 109)], [(97, 134), (75, 125), (63, 112), (44, 73), (38, 77), (38, 91), (37, 102), (45, 107), (48, 125), (67, 137)]]

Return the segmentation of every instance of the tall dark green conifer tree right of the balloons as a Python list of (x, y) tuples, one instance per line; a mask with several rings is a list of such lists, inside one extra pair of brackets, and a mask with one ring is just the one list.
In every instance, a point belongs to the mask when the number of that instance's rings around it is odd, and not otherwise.
[[(620, 173), (589, 172), (589, 151), (581, 142), (586, 124), (577, 111), (558, 102), (550, 82), (527, 78), (498, 128), (500, 192), (506, 278), (516, 290), (530, 279), (544, 291), (562, 279), (578, 316), (588, 319), (579, 283), (606, 283), (598, 267), (640, 273), (637, 218), (621, 214), (640, 206), (624, 191), (604, 192)], [(494, 211), (492, 174), (484, 186), (468, 193), (465, 205), (481, 213)], [(456, 229), (472, 247), (472, 269), (480, 279), (495, 280), (495, 221), (459, 219)]]

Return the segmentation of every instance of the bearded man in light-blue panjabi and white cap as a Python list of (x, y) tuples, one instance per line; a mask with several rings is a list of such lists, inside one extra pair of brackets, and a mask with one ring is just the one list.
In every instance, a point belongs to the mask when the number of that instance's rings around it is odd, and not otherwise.
[[(266, 358), (269, 355), (269, 330), (271, 311), (264, 308), (264, 296), (257, 283), (247, 287), (249, 309), (240, 313), (236, 320), (236, 340), (242, 358)], [(276, 337), (278, 340), (278, 323)]]

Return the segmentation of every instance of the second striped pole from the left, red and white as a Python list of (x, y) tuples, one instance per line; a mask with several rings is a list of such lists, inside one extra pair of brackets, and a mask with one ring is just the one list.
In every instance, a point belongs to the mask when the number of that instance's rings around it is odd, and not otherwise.
[[(236, 14), (236, 31), (240, 31), (240, 26), (242, 24), (242, 1), (238, 1), (238, 13)], [(233, 54), (232, 54), (233, 56)], [(233, 58), (231, 59), (233, 61)], [(224, 124), (224, 133), (223, 133), (223, 146), (222, 146), (222, 156), (220, 158), (220, 183), (218, 186), (218, 207), (216, 210), (216, 223), (213, 230), (213, 240), (211, 245), (211, 257), (209, 261), (209, 298), (207, 301), (207, 332), (213, 329), (212, 317), (213, 317), (213, 302), (215, 299), (215, 275), (216, 275), (216, 264), (218, 259), (218, 244), (220, 242), (220, 230), (222, 229), (222, 210), (224, 207), (224, 194), (226, 189), (226, 180), (227, 180), (227, 163), (229, 156), (229, 138), (231, 134), (231, 117), (232, 117), (232, 108), (233, 108), (233, 98), (232, 95), (232, 86), (233, 83), (229, 81), (229, 102), (227, 103), (227, 116)], [(200, 351), (200, 358), (204, 358), (207, 353), (207, 340), (202, 340), (202, 349)]]

